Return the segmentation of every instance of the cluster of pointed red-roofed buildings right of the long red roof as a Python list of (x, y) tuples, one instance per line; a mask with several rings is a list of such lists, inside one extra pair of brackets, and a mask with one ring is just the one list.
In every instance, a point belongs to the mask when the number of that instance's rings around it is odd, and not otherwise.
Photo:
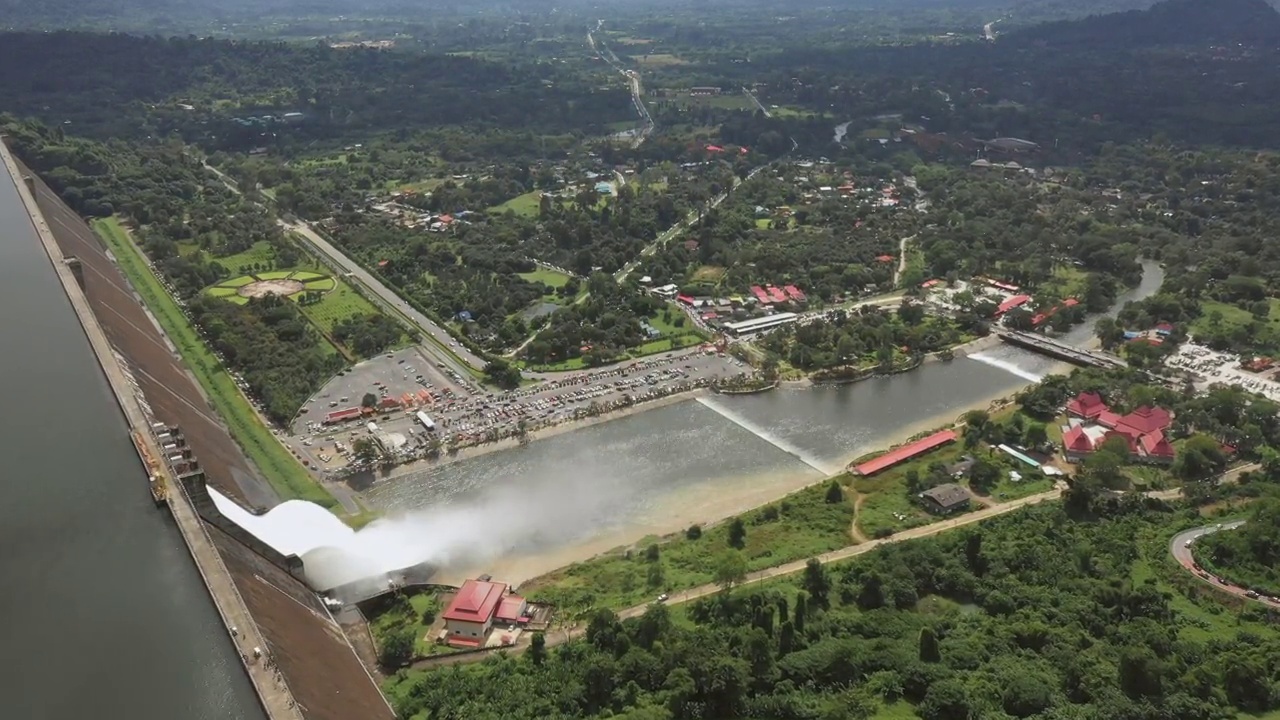
[(1062, 433), (1062, 454), (1071, 462), (1088, 457), (1110, 438), (1119, 437), (1129, 446), (1129, 457), (1137, 462), (1167, 464), (1174, 461), (1174, 446), (1165, 437), (1174, 418), (1164, 407), (1142, 407), (1117, 415), (1102, 396), (1082, 392), (1066, 404), (1070, 425)]

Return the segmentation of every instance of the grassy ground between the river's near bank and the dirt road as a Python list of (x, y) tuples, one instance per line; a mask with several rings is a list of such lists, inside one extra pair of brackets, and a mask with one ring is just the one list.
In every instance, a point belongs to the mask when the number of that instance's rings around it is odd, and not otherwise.
[[(847, 480), (847, 475), (841, 478)], [(852, 543), (852, 495), (845, 488), (840, 502), (827, 502), (828, 486), (819, 483), (740, 516), (746, 529), (740, 552), (749, 573)], [(521, 589), (531, 600), (570, 612), (639, 605), (662, 592), (713, 582), (718, 559), (732, 551), (728, 529), (730, 523), (721, 523), (703, 529), (696, 539), (686, 533), (645, 538), (529, 580)], [(658, 548), (657, 560), (648, 552), (650, 546)]]

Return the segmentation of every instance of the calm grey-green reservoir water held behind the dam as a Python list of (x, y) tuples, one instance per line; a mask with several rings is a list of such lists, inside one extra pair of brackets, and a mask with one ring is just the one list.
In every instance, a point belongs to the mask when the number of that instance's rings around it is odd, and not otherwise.
[(265, 717), (8, 173), (0, 173), (4, 716)]

